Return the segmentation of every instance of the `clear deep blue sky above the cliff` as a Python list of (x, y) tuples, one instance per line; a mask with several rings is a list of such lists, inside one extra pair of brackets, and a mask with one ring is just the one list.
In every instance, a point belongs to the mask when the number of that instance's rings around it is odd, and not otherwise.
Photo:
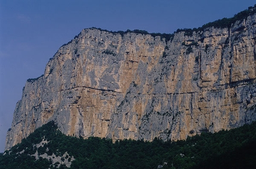
[(173, 33), (246, 10), (255, 0), (0, 0), (0, 152), (27, 79), (82, 29)]

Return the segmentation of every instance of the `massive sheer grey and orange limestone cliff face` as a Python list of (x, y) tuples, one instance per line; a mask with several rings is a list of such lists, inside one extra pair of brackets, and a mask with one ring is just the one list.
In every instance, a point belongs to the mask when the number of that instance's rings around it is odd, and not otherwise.
[(48, 121), (70, 136), (186, 139), (256, 120), (256, 14), (174, 33), (85, 29), (27, 80), (6, 148)]

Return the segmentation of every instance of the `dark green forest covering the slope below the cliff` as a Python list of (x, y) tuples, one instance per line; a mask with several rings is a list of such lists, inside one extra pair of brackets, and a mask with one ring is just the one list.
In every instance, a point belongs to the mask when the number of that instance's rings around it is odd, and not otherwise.
[[(45, 138), (49, 142), (36, 149)], [(20, 154), (19, 152), (23, 152)], [(51, 161), (30, 155), (63, 155), (75, 160), (71, 168), (254, 168), (256, 165), (256, 122), (238, 129), (202, 133), (177, 142), (119, 140), (65, 136), (53, 121), (0, 154), (0, 168), (49, 168)], [(30, 155), (28, 155), (30, 154)], [(161, 166), (160, 166), (161, 165)], [(51, 168), (57, 165), (51, 165)], [(60, 168), (66, 168), (61, 165)]]

